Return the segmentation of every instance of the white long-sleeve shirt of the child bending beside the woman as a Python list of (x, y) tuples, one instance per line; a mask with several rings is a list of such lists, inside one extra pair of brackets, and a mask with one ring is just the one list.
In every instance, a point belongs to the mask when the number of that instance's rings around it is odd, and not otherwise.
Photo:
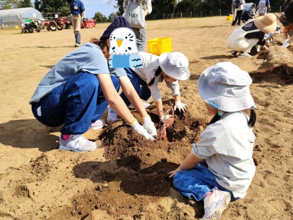
[[(155, 75), (156, 70), (158, 69), (159, 65), (159, 56), (153, 55), (151, 53), (146, 52), (139, 52), (139, 56), (142, 59), (142, 63), (144, 65), (143, 68), (131, 68), (142, 80), (148, 84)], [(149, 88), (152, 98), (154, 99), (154, 102), (157, 102), (159, 99), (162, 98), (161, 92), (158, 88), (158, 84), (163, 82), (164, 78), (162, 74), (159, 74), (153, 83)], [(166, 82), (166, 81), (165, 81)], [(172, 91), (172, 96), (178, 95), (180, 96), (180, 88), (178, 81), (175, 82), (166, 82), (166, 85), (168, 88)]]

